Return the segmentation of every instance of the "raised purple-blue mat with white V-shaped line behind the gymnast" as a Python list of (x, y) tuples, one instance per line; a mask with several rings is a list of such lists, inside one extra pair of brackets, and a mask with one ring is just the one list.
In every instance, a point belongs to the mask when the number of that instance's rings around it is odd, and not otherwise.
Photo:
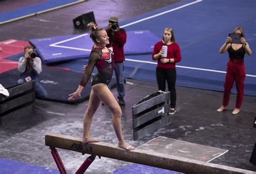
[[(150, 31), (127, 32), (124, 51), (126, 55), (152, 53), (154, 43), (159, 40)], [(93, 41), (89, 33), (31, 39), (45, 64), (74, 59), (89, 58)]]

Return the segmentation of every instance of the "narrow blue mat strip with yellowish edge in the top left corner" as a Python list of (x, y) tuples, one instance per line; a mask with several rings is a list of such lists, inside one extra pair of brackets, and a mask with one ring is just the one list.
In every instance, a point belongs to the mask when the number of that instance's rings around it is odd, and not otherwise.
[(45, 2), (25, 6), (11, 11), (6, 11), (0, 14), (0, 24), (8, 23), (14, 20), (22, 19), (29, 16), (35, 16), (50, 10), (62, 8), (64, 6), (84, 2), (85, 0), (48, 0)]

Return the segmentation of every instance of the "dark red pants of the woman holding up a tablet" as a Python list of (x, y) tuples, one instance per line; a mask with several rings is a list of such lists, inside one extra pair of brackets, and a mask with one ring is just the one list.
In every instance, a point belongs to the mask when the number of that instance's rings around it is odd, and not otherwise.
[(237, 86), (237, 101), (235, 107), (240, 108), (242, 99), (244, 98), (244, 82), (245, 82), (245, 64), (244, 59), (230, 59), (227, 62), (227, 73), (224, 85), (223, 106), (228, 105), (230, 93), (235, 81)]

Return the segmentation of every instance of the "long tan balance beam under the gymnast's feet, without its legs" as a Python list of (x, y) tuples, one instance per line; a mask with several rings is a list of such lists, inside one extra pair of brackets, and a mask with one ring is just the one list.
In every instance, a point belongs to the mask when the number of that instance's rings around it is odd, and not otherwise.
[(62, 134), (45, 135), (45, 145), (53, 148), (66, 149), (102, 156), (106, 158), (118, 159), (121, 161), (149, 165), (156, 168), (173, 170), (184, 173), (254, 173), (253, 171), (232, 168), (213, 163), (206, 163), (194, 159), (160, 154), (157, 152), (136, 149), (127, 151), (118, 148), (115, 144), (97, 142), (82, 144), (82, 138), (72, 137)]

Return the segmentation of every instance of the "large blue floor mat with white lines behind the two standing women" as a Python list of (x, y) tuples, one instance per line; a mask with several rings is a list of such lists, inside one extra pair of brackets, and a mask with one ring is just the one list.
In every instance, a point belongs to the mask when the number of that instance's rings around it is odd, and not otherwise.
[[(246, 2), (184, 0), (125, 20), (120, 27), (126, 31), (150, 28), (159, 38), (165, 27), (172, 27), (182, 57), (177, 63), (177, 85), (223, 91), (228, 53), (219, 54), (219, 48), (228, 33), (241, 26), (253, 52), (245, 55), (245, 94), (256, 95), (256, 3)], [(156, 63), (151, 55), (128, 55), (125, 69), (130, 73), (126, 75), (156, 82)]]

